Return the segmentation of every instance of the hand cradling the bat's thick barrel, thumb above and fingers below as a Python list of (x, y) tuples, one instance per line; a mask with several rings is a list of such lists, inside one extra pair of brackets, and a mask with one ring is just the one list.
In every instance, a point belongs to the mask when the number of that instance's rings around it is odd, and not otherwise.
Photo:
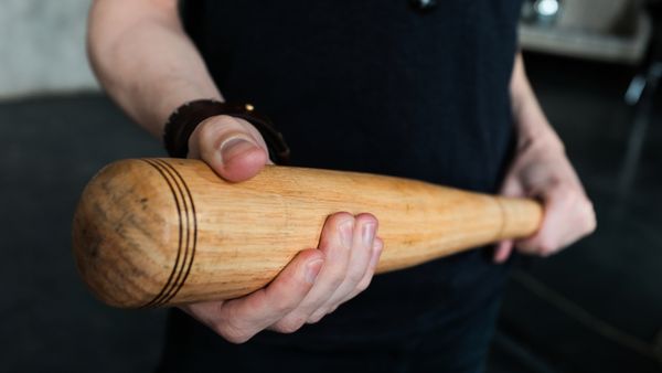
[[(189, 149), (189, 158), (202, 159), (234, 182), (253, 178), (270, 163), (259, 132), (228, 116), (200, 124)], [(322, 227), (319, 247), (299, 253), (267, 287), (242, 298), (182, 309), (234, 343), (265, 329), (293, 332), (367, 288), (383, 248), (376, 230), (377, 220), (371, 214), (333, 214)]]

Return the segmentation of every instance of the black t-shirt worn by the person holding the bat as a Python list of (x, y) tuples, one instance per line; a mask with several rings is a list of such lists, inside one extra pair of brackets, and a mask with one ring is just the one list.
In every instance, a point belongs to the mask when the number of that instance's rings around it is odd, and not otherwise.
[[(495, 192), (513, 145), (509, 82), (520, 0), (195, 0), (185, 29), (225, 98), (285, 135), (296, 166)], [(387, 245), (388, 243), (386, 243)], [(462, 315), (499, 296), (504, 267), (472, 251), (376, 276), (314, 326), (273, 342), (362, 340)]]

